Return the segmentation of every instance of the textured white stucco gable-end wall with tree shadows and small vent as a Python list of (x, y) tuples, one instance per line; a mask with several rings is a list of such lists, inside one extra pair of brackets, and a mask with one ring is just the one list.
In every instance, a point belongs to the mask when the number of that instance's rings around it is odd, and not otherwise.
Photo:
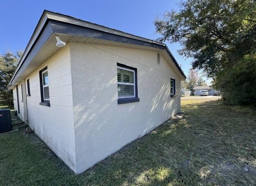
[[(117, 104), (117, 63), (137, 68), (139, 102)], [(71, 72), (78, 173), (181, 110), (180, 78), (154, 51), (71, 43)]]

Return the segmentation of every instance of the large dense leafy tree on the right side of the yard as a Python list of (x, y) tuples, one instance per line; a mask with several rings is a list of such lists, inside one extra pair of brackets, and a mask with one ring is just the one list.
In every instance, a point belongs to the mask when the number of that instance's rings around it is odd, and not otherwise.
[(192, 67), (231, 104), (256, 103), (256, 0), (186, 0), (155, 20), (160, 41), (180, 42)]

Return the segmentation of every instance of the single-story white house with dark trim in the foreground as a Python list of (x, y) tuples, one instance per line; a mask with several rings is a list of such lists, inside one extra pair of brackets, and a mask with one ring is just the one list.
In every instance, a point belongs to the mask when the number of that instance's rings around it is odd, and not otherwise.
[(81, 173), (181, 111), (164, 43), (44, 11), (8, 88), (21, 120)]

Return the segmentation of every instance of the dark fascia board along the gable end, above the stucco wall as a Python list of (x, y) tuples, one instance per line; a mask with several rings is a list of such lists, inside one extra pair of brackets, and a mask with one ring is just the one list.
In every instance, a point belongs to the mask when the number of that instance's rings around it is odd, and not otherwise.
[(176, 59), (171, 54), (170, 50), (168, 49), (168, 47), (166, 45), (159, 45), (157, 43), (141, 41), (141, 40), (129, 38), (126, 36), (111, 34), (108, 32), (103, 32), (100, 30), (82, 27), (82, 26), (78, 26), (78, 25), (74, 25), (74, 24), (70, 24), (70, 23), (64, 23), (64, 22), (60, 22), (57, 20), (50, 20), (50, 22), (53, 27), (53, 32), (59, 33), (59, 34), (68, 34), (68, 35), (73, 35), (73, 36), (104, 39), (104, 40), (108, 40), (108, 41), (116, 41), (116, 42), (129, 43), (129, 44), (134, 44), (134, 45), (142, 45), (142, 46), (147, 46), (147, 47), (158, 48), (160, 50), (165, 50), (169, 54), (169, 57), (171, 57), (172, 61), (174, 61), (174, 64), (176, 65), (176, 67), (178, 68), (180, 73), (183, 75), (183, 77), (186, 78), (185, 74), (181, 70), (181, 67), (178, 65)]

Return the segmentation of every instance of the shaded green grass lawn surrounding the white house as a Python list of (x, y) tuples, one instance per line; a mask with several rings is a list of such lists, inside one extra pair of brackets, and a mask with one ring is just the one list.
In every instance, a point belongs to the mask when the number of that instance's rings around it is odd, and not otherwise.
[(35, 135), (0, 135), (0, 185), (255, 185), (256, 112), (182, 100), (171, 119), (75, 175)]

